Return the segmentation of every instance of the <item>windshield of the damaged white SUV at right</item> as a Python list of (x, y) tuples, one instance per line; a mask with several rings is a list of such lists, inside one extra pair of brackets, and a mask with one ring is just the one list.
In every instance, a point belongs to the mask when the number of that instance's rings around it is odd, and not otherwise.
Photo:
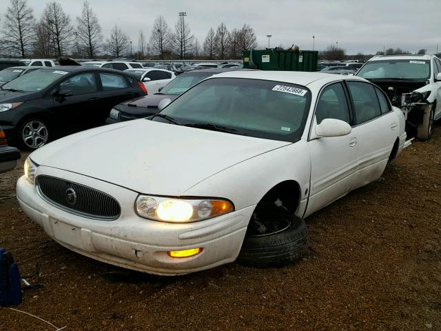
[(357, 76), (366, 79), (428, 79), (429, 61), (395, 60), (370, 61), (358, 71)]

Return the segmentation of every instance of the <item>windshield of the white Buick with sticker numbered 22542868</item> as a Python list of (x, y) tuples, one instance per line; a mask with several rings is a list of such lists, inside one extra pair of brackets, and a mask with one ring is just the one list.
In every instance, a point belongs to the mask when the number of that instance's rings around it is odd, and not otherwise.
[(310, 101), (311, 93), (303, 86), (213, 78), (182, 94), (160, 114), (182, 125), (294, 142), (302, 134)]

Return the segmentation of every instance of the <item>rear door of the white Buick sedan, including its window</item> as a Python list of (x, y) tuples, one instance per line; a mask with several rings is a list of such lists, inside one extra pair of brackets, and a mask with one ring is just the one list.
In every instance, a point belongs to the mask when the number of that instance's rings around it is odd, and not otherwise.
[(379, 88), (363, 81), (347, 81), (357, 137), (359, 164), (354, 188), (378, 179), (398, 137), (399, 123)]

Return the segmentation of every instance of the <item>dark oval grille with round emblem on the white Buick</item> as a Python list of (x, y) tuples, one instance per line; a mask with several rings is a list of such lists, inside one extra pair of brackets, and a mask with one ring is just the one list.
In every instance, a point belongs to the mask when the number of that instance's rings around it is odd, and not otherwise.
[(72, 214), (105, 221), (121, 214), (116, 199), (94, 188), (43, 175), (37, 177), (37, 185), (43, 199)]

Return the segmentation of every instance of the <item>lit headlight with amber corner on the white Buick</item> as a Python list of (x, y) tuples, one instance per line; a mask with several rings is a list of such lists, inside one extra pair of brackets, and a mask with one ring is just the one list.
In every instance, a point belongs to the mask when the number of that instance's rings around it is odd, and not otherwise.
[(136, 199), (136, 213), (155, 221), (187, 223), (227, 214), (233, 210), (232, 203), (220, 199), (173, 199), (147, 195), (140, 195)]

